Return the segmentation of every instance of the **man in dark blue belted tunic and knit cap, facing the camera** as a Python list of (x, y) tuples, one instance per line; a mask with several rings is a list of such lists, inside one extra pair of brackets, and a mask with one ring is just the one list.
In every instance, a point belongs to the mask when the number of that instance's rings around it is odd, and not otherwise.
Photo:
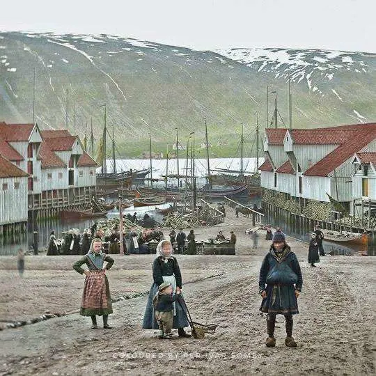
[(274, 233), (272, 246), (260, 268), (258, 288), (263, 301), (260, 311), (267, 313), (267, 347), (276, 345), (274, 328), (276, 315), (285, 316), (285, 345), (297, 347), (292, 338), (292, 315), (299, 313), (297, 297), (301, 292), (303, 278), (297, 256), (286, 244), (283, 233)]

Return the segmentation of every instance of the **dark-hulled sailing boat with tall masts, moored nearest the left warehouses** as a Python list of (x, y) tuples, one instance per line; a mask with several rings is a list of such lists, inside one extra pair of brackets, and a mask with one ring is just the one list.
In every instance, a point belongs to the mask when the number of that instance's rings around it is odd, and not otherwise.
[[(128, 170), (121, 171), (118, 173), (116, 171), (116, 157), (115, 157), (115, 133), (112, 127), (112, 159), (113, 159), (113, 171), (107, 171), (107, 112), (106, 104), (102, 105), (104, 107), (104, 128), (103, 135), (98, 147), (97, 162), (102, 165), (101, 173), (97, 174), (97, 191), (100, 193), (115, 193), (118, 191), (120, 186), (126, 189), (130, 189), (132, 184), (137, 184), (144, 180), (146, 175), (150, 173), (150, 169), (143, 170)], [(92, 130), (93, 131), (93, 130)]]

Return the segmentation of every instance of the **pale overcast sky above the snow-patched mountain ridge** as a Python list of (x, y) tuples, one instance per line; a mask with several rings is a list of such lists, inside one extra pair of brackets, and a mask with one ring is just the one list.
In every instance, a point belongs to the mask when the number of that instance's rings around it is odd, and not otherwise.
[(193, 49), (376, 52), (376, 0), (13, 0), (1, 31), (108, 33)]

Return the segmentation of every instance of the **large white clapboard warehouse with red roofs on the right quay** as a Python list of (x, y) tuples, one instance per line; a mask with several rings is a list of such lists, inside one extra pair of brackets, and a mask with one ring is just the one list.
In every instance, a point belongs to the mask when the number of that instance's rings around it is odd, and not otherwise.
[(267, 129), (264, 151), (260, 166), (264, 189), (320, 202), (329, 202), (331, 196), (352, 212), (354, 154), (376, 151), (376, 123)]

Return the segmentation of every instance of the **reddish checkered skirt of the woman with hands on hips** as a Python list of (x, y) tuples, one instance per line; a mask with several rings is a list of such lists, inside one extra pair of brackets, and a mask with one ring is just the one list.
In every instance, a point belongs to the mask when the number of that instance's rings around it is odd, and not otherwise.
[(85, 279), (79, 314), (82, 316), (102, 316), (109, 315), (109, 313), (112, 313), (109, 280), (102, 271), (91, 272)]

